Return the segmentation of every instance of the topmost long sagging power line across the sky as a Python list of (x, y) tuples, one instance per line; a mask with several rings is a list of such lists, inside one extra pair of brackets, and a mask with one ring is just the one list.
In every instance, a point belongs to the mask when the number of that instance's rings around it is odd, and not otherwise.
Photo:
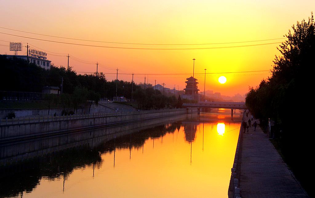
[(131, 44), (131, 45), (215, 45), (215, 44), (232, 44), (232, 43), (246, 43), (246, 42), (258, 42), (258, 41), (271, 41), (271, 40), (279, 40), (284, 38), (275, 38), (275, 39), (264, 39), (264, 40), (256, 40), (256, 41), (238, 41), (238, 42), (224, 42), (224, 43), (195, 43), (195, 44), (156, 44), (156, 43), (123, 43), (123, 42), (110, 42), (110, 41), (95, 41), (95, 40), (86, 40), (86, 39), (76, 39), (76, 38), (68, 38), (68, 37), (61, 37), (61, 36), (52, 36), (46, 34), (39, 34), (33, 32), (27, 32), (22, 30), (14, 30), (10, 28), (0, 27), (2, 29), (13, 30), (18, 32), (25, 32), (29, 34), (41, 35), (41, 36), (50, 36), (55, 38), (64, 38), (64, 39), (71, 39), (77, 41), (91, 41), (91, 42), (101, 42), (101, 43), (115, 43), (115, 44)]

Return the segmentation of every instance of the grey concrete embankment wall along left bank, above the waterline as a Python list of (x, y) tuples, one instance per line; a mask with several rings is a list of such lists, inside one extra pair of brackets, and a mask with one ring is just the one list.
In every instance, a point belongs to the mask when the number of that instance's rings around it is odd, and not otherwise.
[(0, 142), (41, 137), (95, 127), (141, 122), (190, 113), (187, 109), (163, 109), (140, 112), (87, 114), (76, 116), (9, 120), (0, 125)]

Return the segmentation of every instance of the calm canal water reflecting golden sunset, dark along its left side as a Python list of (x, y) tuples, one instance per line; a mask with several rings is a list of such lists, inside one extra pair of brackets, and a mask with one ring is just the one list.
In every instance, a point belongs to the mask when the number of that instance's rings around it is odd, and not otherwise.
[(0, 197), (227, 197), (242, 112), (0, 145)]

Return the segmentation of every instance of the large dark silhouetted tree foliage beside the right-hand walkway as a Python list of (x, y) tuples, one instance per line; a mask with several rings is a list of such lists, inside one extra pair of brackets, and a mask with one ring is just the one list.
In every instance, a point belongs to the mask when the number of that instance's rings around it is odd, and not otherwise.
[[(292, 26), (285, 35), (287, 40), (278, 50), (271, 77), (249, 89), (246, 105), (266, 126), (268, 118), (275, 121), (274, 133), (285, 161), (292, 167), (302, 185), (313, 194), (310, 186), (310, 151), (312, 148), (311, 118), (306, 116), (308, 95), (312, 92), (312, 69), (315, 54), (315, 24), (313, 13), (308, 21)], [(310, 109), (312, 111), (312, 109)]]

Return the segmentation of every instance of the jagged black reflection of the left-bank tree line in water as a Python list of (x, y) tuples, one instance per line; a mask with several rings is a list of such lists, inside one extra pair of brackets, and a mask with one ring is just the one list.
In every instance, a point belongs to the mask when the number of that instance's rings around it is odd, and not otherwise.
[(0, 166), (0, 197), (18, 196), (24, 191), (31, 192), (39, 184), (41, 178), (66, 179), (74, 169), (93, 165), (95, 168), (100, 168), (102, 164), (100, 152), (112, 152), (115, 148), (139, 148), (149, 138), (159, 138), (167, 133), (174, 133), (176, 129), (180, 129), (180, 126), (181, 122), (164, 124), (123, 135), (94, 148), (89, 145), (77, 146), (23, 162)]

